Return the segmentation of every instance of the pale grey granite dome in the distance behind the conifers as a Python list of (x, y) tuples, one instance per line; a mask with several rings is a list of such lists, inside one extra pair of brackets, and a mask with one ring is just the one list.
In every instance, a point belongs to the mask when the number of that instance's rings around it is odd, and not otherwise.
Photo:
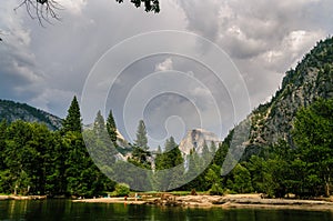
[(219, 147), (221, 141), (219, 138), (206, 130), (203, 129), (193, 129), (188, 132), (185, 138), (180, 142), (179, 149), (184, 154), (188, 155), (193, 150), (196, 153), (202, 153), (204, 144), (211, 150), (211, 144), (214, 143), (215, 147)]

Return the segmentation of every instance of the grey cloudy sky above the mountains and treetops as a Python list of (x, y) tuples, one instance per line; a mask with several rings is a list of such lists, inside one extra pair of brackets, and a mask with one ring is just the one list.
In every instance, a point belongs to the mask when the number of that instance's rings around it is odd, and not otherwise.
[(144, 119), (151, 145), (199, 127), (222, 138), (333, 33), (331, 0), (162, 0), (158, 14), (59, 0), (46, 28), (19, 3), (0, 6), (0, 98), (63, 118), (75, 94), (84, 123), (112, 109), (133, 140)]

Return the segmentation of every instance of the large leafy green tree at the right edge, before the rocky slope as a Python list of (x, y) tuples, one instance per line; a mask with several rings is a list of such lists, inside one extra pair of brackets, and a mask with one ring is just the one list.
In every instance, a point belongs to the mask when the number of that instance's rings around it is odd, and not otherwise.
[(311, 171), (307, 179), (322, 183), (327, 197), (331, 194), (333, 175), (332, 122), (333, 99), (321, 99), (297, 112), (293, 131), (300, 151), (299, 158), (306, 162), (307, 171)]

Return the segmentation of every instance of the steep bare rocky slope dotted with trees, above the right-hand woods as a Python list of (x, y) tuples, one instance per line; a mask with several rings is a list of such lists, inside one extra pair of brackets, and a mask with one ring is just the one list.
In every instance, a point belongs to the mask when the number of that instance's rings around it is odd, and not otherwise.
[(291, 130), (296, 112), (319, 98), (333, 98), (333, 38), (320, 41), (294, 70), (286, 72), (272, 100), (248, 117), (252, 127), (246, 149), (255, 152), (280, 139), (293, 144)]

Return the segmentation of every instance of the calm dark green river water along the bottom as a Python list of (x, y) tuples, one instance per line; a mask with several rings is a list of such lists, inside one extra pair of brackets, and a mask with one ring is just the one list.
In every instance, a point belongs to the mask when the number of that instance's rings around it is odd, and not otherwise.
[(332, 212), (262, 209), (184, 209), (153, 205), (72, 203), (64, 200), (0, 201), (0, 220), (221, 220), (221, 221), (329, 221)]

